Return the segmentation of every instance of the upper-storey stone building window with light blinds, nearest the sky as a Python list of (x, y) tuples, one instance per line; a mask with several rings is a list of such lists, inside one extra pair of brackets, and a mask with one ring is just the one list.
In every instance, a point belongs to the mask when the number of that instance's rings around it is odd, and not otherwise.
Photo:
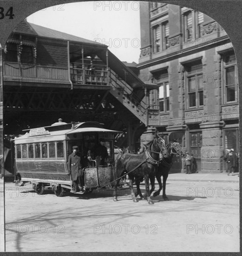
[(153, 53), (159, 53), (169, 47), (169, 23), (165, 21), (159, 25), (152, 27), (153, 31)]

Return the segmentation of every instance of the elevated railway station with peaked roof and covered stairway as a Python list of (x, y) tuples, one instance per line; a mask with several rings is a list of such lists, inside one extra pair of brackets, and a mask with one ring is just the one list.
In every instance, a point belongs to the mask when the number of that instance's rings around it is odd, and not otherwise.
[(106, 45), (30, 24), (14, 29), (4, 47), (4, 133), (65, 122), (98, 121), (122, 130), (116, 143), (135, 142), (159, 124), (155, 84), (141, 81)]

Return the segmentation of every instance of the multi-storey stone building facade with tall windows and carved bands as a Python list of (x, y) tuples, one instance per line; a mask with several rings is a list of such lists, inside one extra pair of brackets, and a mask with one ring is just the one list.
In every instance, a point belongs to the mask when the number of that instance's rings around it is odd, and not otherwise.
[[(157, 129), (192, 153), (197, 170), (220, 172), (227, 148), (239, 153), (239, 96), (235, 53), (229, 36), (209, 16), (170, 4), (140, 5), (141, 54), (145, 83), (159, 85), (150, 102), (160, 110)], [(177, 159), (177, 162), (179, 160)], [(174, 171), (183, 171), (175, 163)]]

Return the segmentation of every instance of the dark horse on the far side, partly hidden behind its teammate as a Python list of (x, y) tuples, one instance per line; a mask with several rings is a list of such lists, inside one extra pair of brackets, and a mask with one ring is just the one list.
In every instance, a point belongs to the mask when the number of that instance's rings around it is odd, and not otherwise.
[[(167, 151), (168, 151), (168, 155), (167, 157), (164, 157), (157, 169), (156, 169), (156, 179), (157, 182), (159, 183), (159, 189), (153, 194), (153, 196), (157, 196), (160, 195), (160, 191), (162, 189), (162, 182), (161, 182), (161, 176), (163, 176), (163, 198), (164, 201), (168, 201), (168, 197), (165, 195), (165, 185), (166, 185), (166, 180), (170, 171), (170, 168), (172, 166), (172, 158), (173, 155), (181, 155), (182, 157), (185, 155), (182, 146), (176, 141), (171, 141), (168, 145), (166, 145), (167, 147)], [(140, 184), (140, 180), (136, 180), (136, 186), (137, 186), (137, 193), (136, 196), (139, 195), (141, 198), (143, 197), (140, 188), (139, 188), (139, 184)], [(150, 190), (150, 194), (154, 191), (154, 187), (151, 188)], [(144, 194), (144, 197), (146, 195)]]

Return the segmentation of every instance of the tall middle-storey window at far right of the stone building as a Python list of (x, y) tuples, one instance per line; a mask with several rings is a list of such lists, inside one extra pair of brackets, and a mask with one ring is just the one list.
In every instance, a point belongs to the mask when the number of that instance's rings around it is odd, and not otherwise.
[(237, 64), (235, 54), (223, 56), (224, 103), (238, 102)]

